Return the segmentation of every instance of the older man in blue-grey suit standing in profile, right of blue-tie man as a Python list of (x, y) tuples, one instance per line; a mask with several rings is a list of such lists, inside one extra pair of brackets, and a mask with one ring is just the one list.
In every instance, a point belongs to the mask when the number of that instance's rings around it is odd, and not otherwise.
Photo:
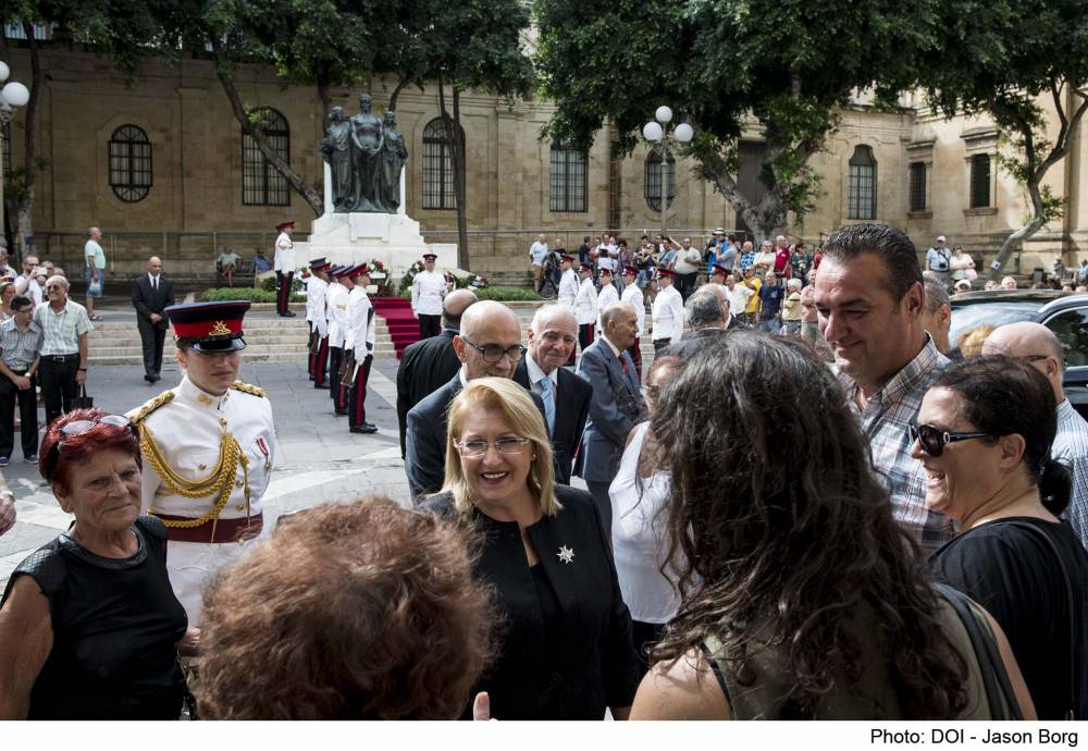
[(634, 309), (627, 303), (609, 305), (601, 313), (601, 325), (604, 336), (586, 347), (578, 364), (578, 374), (593, 386), (593, 396), (574, 473), (585, 480), (605, 529), (611, 530), (608, 485), (619, 470), (628, 434), (645, 416), (645, 403), (627, 353), (639, 331)]

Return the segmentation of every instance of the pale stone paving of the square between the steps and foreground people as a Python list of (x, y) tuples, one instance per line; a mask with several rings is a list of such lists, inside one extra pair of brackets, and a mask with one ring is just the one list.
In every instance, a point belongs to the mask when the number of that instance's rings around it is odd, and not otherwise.
[[(164, 358), (169, 359), (169, 358)], [(408, 504), (396, 415), (396, 360), (371, 370), (367, 419), (379, 427), (370, 435), (349, 433), (346, 417), (334, 417), (327, 391), (307, 379), (302, 362), (244, 362), (242, 379), (267, 390), (275, 417), (279, 455), (264, 495), (267, 524), (285, 512), (329, 502), (383, 494)], [(87, 393), (95, 406), (124, 413), (181, 380), (173, 362), (163, 362), (163, 380), (149, 385), (140, 366), (91, 368)], [(44, 410), (39, 420), (44, 420)], [(0, 538), (0, 588), (35, 549), (67, 528), (72, 517), (60, 509), (36, 465), (23, 461), (15, 441), (12, 463), (2, 471), (15, 494), (17, 521)]]

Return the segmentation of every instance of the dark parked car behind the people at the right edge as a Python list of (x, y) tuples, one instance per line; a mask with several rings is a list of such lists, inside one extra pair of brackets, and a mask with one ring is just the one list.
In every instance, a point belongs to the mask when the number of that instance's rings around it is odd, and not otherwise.
[(1088, 419), (1088, 294), (1051, 290), (966, 292), (952, 296), (949, 342), (980, 325), (1035, 321), (1054, 332), (1065, 352), (1065, 395)]

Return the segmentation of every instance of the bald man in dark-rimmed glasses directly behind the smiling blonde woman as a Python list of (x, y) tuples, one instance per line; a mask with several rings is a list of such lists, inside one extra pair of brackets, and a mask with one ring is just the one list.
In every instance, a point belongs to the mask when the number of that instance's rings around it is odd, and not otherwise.
[[(408, 411), (405, 473), (416, 503), (442, 488), (449, 403), (474, 379), (514, 378), (521, 360), (521, 325), (514, 311), (502, 303), (483, 300), (465, 310), (453, 346), (461, 364), (457, 374)], [(530, 392), (530, 395), (543, 416), (544, 403), (536, 394)]]

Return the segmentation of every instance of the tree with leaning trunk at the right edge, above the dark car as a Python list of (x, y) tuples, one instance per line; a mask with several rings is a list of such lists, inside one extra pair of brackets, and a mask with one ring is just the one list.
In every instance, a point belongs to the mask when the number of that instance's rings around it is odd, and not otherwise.
[(1064, 212), (1042, 181), (1088, 111), (1088, 15), (1080, 0), (960, 0), (942, 7), (940, 27), (942, 51), (919, 69), (931, 106), (948, 118), (989, 114), (1005, 147), (998, 164), (1030, 201), (989, 269), (998, 279), (1013, 251)]

